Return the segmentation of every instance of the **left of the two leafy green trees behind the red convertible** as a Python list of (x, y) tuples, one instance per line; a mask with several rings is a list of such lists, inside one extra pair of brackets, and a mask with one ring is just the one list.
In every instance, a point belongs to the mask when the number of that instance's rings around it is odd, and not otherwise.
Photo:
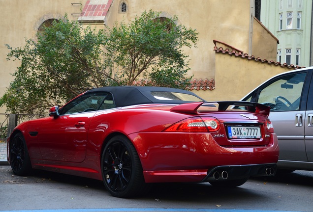
[(11, 113), (42, 114), (92, 87), (112, 84), (103, 73), (102, 41), (103, 31), (83, 28), (65, 16), (38, 33), (36, 42), (26, 39), (24, 47), (15, 49), (6, 45), (7, 59), (21, 65), (0, 106)]

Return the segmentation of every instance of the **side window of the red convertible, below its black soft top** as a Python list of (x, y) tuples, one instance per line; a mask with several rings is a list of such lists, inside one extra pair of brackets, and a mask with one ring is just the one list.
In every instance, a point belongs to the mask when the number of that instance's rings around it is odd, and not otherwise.
[(64, 106), (60, 114), (73, 114), (103, 109), (103, 105), (107, 103), (106, 99), (112, 100), (110, 103), (114, 107), (112, 94), (105, 92), (88, 93)]

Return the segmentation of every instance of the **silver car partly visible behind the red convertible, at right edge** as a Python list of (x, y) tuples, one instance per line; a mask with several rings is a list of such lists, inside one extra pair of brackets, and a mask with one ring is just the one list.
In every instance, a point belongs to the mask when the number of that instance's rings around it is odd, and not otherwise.
[(278, 135), (279, 169), (313, 171), (313, 67), (268, 79), (242, 101), (270, 106)]

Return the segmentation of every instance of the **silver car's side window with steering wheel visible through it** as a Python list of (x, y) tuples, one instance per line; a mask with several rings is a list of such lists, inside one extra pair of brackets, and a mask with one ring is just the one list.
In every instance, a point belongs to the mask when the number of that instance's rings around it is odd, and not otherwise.
[(271, 107), (271, 111), (300, 109), (301, 94), (306, 73), (283, 76), (260, 89), (257, 103)]

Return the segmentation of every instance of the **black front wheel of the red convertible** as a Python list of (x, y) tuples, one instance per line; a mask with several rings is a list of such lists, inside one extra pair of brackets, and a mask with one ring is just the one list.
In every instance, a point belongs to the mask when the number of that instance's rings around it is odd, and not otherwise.
[(16, 133), (9, 143), (9, 159), (15, 175), (26, 176), (31, 173), (31, 159), (21, 132)]

